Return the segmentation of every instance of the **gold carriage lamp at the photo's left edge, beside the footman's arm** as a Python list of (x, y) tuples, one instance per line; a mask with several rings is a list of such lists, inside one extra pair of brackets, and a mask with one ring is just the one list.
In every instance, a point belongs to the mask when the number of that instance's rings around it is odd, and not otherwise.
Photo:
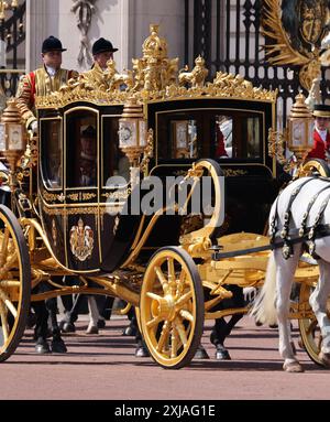
[(13, 176), (25, 151), (26, 134), (15, 99), (8, 101), (0, 120), (0, 154), (7, 160)]

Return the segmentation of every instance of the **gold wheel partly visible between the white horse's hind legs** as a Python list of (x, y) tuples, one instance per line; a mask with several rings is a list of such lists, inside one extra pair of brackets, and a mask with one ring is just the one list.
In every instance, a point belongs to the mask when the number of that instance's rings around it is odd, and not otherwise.
[[(309, 312), (309, 317), (299, 320), (299, 331), (304, 347), (310, 357), (317, 365), (323, 366), (319, 359), (319, 353), (321, 350), (322, 336), (320, 332), (319, 324), (317, 318), (314, 315), (314, 312), (309, 305), (309, 296), (312, 292), (312, 286), (301, 283), (300, 294), (299, 294), (299, 305), (304, 305), (304, 309)], [(329, 299), (327, 305), (328, 314), (330, 311)]]

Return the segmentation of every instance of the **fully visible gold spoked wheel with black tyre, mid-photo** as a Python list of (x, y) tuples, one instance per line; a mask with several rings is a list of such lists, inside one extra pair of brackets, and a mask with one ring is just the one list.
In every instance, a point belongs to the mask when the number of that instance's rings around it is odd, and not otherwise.
[(141, 290), (140, 318), (153, 359), (179, 369), (194, 358), (204, 329), (204, 292), (193, 258), (183, 249), (160, 249), (150, 260)]

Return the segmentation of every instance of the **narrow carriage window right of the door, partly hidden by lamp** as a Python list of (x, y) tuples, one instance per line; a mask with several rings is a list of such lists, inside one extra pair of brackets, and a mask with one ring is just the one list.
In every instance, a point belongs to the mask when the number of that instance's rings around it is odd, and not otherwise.
[[(119, 116), (107, 117), (103, 120), (103, 185), (110, 187), (119, 182), (127, 185), (130, 182), (130, 162), (120, 150)], [(117, 176), (121, 178), (117, 178)], [(116, 177), (116, 178), (113, 178)]]

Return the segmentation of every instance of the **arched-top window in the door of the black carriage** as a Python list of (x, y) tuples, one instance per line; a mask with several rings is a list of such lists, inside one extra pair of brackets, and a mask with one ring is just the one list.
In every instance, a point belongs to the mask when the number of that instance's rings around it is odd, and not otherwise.
[(96, 187), (98, 169), (97, 116), (78, 110), (67, 116), (67, 186)]

